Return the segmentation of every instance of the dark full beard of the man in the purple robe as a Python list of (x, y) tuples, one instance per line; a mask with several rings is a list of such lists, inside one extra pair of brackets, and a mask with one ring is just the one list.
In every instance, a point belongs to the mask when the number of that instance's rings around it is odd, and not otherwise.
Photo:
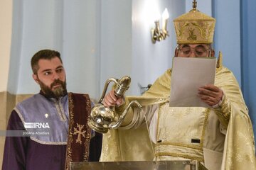
[[(50, 88), (43, 84), (42, 81), (38, 79), (38, 83), (41, 86), (41, 90), (48, 98), (60, 98), (67, 94), (67, 84), (66, 81), (61, 81), (60, 79), (55, 79), (52, 84), (50, 84)], [(53, 86), (60, 84), (61, 86), (53, 89)], [(53, 89), (53, 90), (52, 90)]]

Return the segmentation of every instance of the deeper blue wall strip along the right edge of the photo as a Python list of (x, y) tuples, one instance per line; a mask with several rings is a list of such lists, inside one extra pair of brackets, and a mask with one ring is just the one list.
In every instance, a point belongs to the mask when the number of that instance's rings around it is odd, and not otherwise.
[(256, 1), (240, 0), (242, 91), (256, 135)]

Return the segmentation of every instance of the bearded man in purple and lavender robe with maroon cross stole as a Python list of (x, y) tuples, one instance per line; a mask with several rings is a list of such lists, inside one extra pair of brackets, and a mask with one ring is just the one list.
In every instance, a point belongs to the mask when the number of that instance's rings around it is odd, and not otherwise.
[(41, 91), (11, 113), (7, 130), (23, 133), (6, 136), (2, 169), (69, 169), (70, 162), (98, 161), (102, 135), (87, 125), (90, 98), (67, 92), (60, 52), (36, 52), (31, 67)]

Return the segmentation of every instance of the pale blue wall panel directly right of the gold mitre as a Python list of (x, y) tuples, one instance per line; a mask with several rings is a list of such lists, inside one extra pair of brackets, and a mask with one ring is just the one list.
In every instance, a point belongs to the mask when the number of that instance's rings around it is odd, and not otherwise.
[(241, 84), (240, 0), (212, 1), (213, 17), (216, 18), (215, 55), (223, 53), (223, 64)]

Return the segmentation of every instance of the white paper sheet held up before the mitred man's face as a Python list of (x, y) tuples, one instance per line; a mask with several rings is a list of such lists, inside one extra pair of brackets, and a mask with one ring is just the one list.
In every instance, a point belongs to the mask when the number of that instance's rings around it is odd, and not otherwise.
[(198, 88), (214, 84), (215, 57), (174, 57), (171, 71), (171, 107), (206, 107), (198, 97)]

